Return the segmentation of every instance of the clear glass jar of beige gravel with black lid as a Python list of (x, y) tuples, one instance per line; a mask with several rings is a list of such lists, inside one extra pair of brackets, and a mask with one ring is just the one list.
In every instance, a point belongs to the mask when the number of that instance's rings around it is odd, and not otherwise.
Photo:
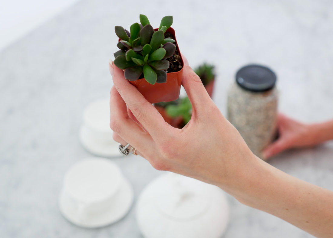
[(276, 137), (278, 91), (276, 75), (267, 67), (248, 65), (236, 73), (228, 92), (228, 120), (260, 158)]

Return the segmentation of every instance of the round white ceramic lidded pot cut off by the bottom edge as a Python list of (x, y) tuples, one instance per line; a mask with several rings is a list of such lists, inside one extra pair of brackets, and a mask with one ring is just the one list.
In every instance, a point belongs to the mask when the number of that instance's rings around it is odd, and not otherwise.
[(218, 238), (226, 229), (229, 206), (220, 188), (166, 173), (143, 190), (136, 216), (146, 238)]

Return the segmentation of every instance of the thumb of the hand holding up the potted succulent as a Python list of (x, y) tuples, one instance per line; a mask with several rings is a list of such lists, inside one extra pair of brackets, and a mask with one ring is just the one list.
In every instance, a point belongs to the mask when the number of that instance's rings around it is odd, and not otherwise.
[(193, 109), (204, 108), (211, 99), (201, 79), (188, 65), (184, 66), (182, 82)]

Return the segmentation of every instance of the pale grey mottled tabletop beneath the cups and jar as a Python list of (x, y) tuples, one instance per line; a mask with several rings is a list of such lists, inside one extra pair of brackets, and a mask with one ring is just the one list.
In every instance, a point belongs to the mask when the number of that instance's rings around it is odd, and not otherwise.
[[(332, 1), (82, 0), (0, 52), (1, 237), (141, 237), (134, 209), (112, 226), (83, 229), (67, 222), (57, 204), (64, 172), (90, 156), (78, 129), (84, 107), (109, 95), (108, 60), (117, 50), (113, 28), (128, 28), (139, 13), (154, 25), (173, 15), (190, 65), (217, 66), (214, 101), (223, 113), (235, 71), (261, 63), (278, 75), (282, 112), (307, 122), (333, 118)], [(270, 163), (333, 190), (332, 157), (328, 142)], [(141, 157), (114, 161), (133, 184), (135, 199), (162, 173)], [(224, 237), (311, 237), (228, 199), (231, 221)]]

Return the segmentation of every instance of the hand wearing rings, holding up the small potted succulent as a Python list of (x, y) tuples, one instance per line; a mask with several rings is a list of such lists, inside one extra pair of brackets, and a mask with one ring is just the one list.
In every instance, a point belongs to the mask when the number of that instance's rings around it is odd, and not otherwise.
[(225, 190), (241, 189), (240, 177), (257, 161), (256, 157), (189, 66), (184, 66), (182, 85), (192, 104), (192, 118), (182, 129), (166, 123), (124, 78), (122, 70), (112, 62), (109, 67), (114, 82), (110, 126), (116, 141), (130, 143), (158, 170), (183, 174)]

